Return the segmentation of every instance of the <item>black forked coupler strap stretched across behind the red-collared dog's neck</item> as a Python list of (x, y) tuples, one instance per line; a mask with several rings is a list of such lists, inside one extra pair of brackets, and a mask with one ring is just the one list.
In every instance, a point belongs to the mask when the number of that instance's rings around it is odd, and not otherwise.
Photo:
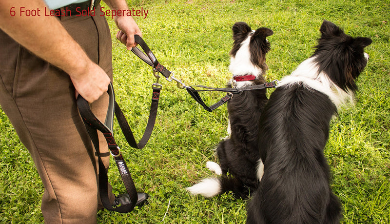
[[(277, 85), (277, 80), (272, 81), (272, 82), (265, 82), (260, 85), (250, 85), (250, 86), (245, 86), (241, 88), (214, 88), (214, 87), (208, 87), (204, 85), (192, 85), (192, 86), (186, 86), (187, 92), (194, 98), (196, 102), (198, 102), (200, 105), (203, 106), (203, 108), (209, 112), (212, 112), (215, 110), (217, 107), (223, 105), (225, 102), (228, 102), (233, 98), (233, 94), (238, 94), (243, 91), (248, 91), (248, 90), (256, 90), (256, 89), (267, 89), (267, 88), (273, 88), (276, 87)], [(195, 89), (194, 87), (198, 88), (204, 88), (204, 89)], [(227, 92), (226, 96), (221, 98), (220, 101), (214, 103), (211, 106), (207, 106), (206, 103), (202, 100), (198, 92), (206, 92), (206, 91), (219, 91), (219, 92)]]

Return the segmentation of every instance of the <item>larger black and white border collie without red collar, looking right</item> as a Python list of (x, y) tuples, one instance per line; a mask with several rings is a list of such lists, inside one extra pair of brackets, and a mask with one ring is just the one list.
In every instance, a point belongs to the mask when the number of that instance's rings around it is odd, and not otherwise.
[(248, 204), (248, 224), (334, 224), (342, 218), (323, 150), (337, 106), (357, 89), (371, 39), (352, 38), (327, 20), (320, 32), (312, 57), (280, 81), (260, 118), (264, 175)]

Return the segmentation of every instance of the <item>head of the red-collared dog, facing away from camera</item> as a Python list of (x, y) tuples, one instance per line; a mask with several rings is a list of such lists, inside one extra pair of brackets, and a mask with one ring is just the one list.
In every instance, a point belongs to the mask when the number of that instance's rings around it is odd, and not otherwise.
[(234, 43), (230, 51), (230, 71), (237, 76), (263, 75), (268, 69), (265, 55), (271, 49), (267, 37), (273, 35), (273, 31), (265, 27), (252, 30), (245, 22), (236, 22), (232, 30)]

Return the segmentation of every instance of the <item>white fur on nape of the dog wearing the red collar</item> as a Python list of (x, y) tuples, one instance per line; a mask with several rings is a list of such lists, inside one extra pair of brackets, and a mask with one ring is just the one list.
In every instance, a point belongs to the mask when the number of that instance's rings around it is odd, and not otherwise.
[[(249, 51), (249, 43), (251, 41), (251, 37), (254, 31), (248, 35), (245, 41), (242, 41), (240, 49), (238, 49), (235, 57), (230, 58), (229, 70), (234, 76), (245, 76), (248, 74), (252, 74), (256, 77), (259, 77), (262, 74), (262, 69), (254, 66), (251, 62), (251, 53)], [(247, 85), (251, 85), (252, 81), (239, 81), (237, 82), (236, 87), (244, 87)]]

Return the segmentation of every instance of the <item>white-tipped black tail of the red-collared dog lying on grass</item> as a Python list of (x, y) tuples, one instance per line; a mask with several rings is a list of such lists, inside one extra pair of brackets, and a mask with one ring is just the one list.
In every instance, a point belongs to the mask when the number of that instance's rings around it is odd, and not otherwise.
[(203, 179), (200, 183), (196, 183), (191, 187), (186, 188), (192, 195), (203, 195), (206, 198), (212, 198), (218, 194), (232, 191), (234, 196), (247, 198), (249, 191), (236, 178), (231, 176), (220, 176), (219, 178), (211, 177)]

